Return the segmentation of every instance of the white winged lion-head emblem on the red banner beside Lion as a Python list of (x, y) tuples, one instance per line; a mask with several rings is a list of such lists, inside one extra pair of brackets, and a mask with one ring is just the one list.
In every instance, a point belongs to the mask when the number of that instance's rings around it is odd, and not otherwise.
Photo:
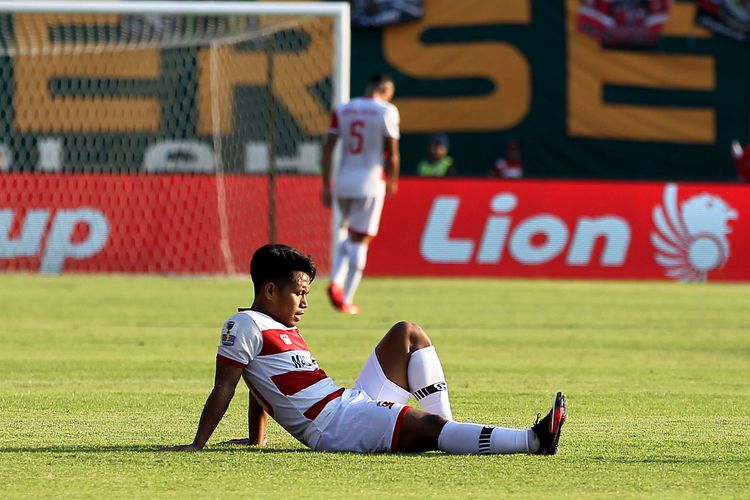
[(738, 215), (719, 196), (702, 193), (679, 203), (677, 186), (667, 184), (664, 200), (654, 207), (652, 217), (654, 260), (666, 276), (706, 281), (709, 271), (723, 267), (729, 259), (729, 221)]

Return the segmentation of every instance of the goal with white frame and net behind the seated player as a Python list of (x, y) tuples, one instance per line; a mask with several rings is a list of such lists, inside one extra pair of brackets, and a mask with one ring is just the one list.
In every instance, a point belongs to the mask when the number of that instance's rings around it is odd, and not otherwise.
[(341, 2), (0, 1), (0, 270), (325, 271)]

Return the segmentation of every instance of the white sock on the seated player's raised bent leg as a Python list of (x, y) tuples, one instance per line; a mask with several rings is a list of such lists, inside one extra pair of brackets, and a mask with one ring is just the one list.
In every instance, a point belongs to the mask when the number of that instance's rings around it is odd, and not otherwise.
[(440, 364), (435, 346), (424, 347), (411, 353), (406, 378), (409, 390), (424, 411), (453, 420), (448, 399), (448, 384), (445, 382), (443, 365)]

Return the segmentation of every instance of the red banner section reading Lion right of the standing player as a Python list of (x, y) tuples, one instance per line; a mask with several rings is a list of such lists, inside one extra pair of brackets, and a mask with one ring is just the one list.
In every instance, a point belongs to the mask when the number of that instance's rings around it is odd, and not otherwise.
[(750, 186), (403, 179), (368, 275), (750, 280)]

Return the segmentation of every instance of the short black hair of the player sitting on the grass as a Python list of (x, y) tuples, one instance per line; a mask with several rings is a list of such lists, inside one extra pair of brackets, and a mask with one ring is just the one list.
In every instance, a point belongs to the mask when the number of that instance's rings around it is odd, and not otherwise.
[(288, 245), (263, 245), (250, 260), (250, 277), (256, 294), (269, 281), (277, 285), (282, 282), (294, 283), (294, 271), (306, 273), (312, 283), (315, 279), (315, 262), (309, 255)]

